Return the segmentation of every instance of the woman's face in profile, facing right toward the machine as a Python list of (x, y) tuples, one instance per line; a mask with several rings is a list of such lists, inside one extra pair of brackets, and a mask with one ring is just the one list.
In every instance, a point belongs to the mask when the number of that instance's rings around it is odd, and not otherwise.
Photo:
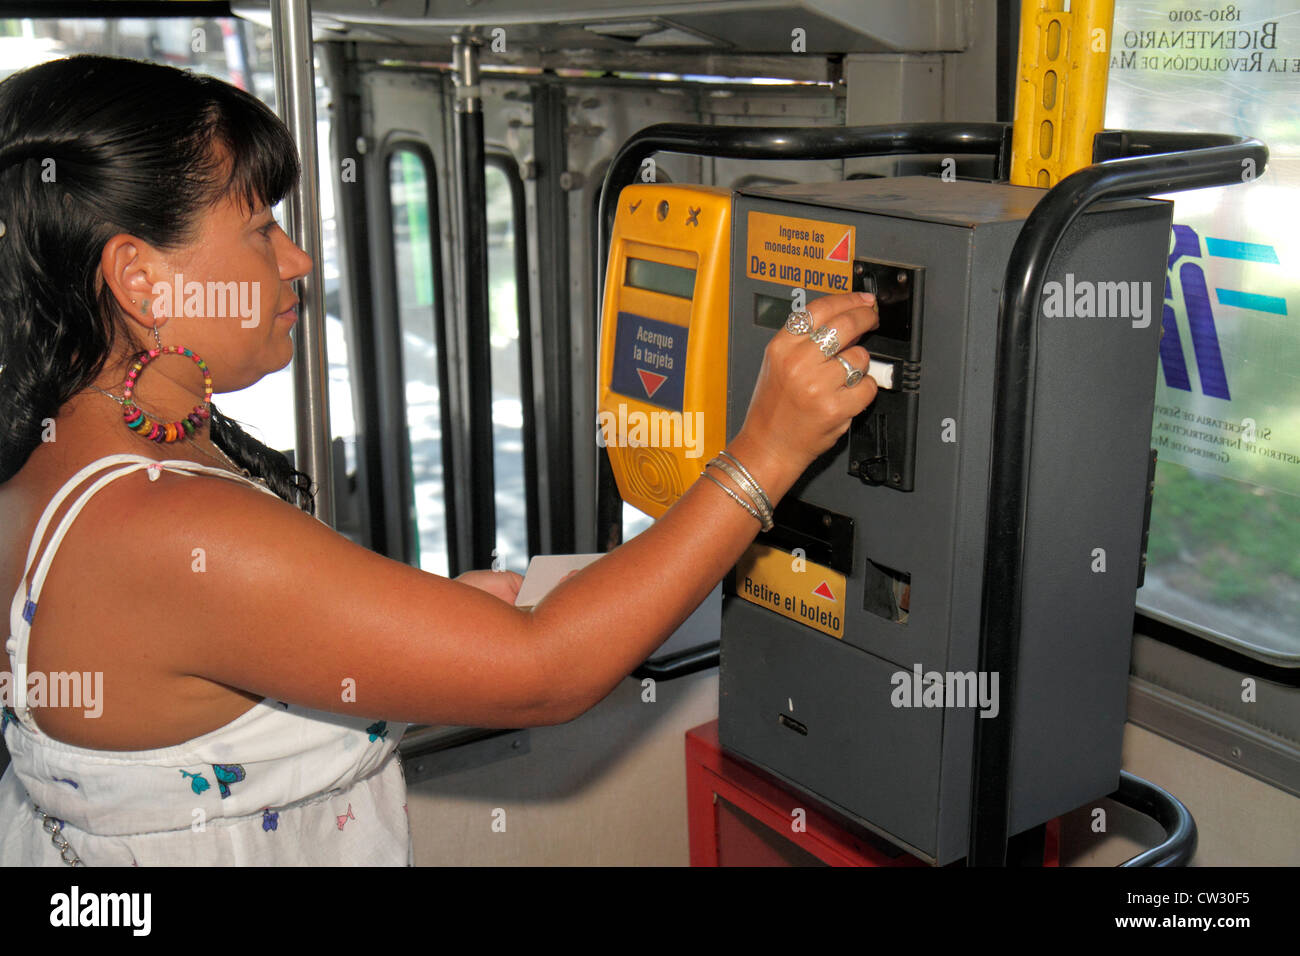
[(196, 239), (160, 265), (150, 311), (162, 345), (203, 356), (214, 392), (247, 388), (292, 359), (292, 281), (311, 272), (312, 260), (268, 207), (222, 199), (200, 217)]

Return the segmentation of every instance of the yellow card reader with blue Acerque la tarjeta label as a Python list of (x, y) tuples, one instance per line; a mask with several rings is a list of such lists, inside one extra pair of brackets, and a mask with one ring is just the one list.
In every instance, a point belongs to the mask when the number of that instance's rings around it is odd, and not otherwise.
[(625, 502), (658, 518), (727, 442), (731, 191), (619, 196), (601, 326), (599, 440)]

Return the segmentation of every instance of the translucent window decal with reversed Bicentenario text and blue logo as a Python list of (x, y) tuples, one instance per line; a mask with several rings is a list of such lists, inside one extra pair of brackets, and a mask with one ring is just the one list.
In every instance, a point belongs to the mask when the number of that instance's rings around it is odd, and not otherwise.
[(1106, 126), (1251, 135), (1243, 183), (1178, 193), (1152, 444), (1300, 494), (1300, 5), (1118, 0)]

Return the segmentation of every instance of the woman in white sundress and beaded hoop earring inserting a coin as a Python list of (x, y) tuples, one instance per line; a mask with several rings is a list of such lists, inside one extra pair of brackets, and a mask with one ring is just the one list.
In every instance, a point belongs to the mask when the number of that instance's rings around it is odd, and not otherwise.
[(597, 704), (875, 395), (863, 349), (805, 334), (852, 343), (874, 300), (814, 302), (728, 447), (751, 479), (710, 468), (521, 611), (517, 575), (447, 580), (316, 522), (307, 477), (209, 410), (292, 355), (312, 263), (270, 207), (296, 176), (274, 114), (212, 78), (84, 56), (0, 85), (3, 864), (408, 862), (404, 722)]

